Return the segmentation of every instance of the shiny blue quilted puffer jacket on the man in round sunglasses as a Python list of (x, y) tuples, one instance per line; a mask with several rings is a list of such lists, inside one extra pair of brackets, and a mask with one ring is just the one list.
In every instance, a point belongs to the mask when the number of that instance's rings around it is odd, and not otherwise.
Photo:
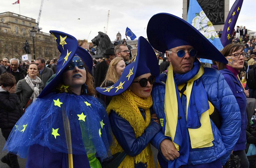
[[(204, 68), (204, 74), (201, 78), (208, 100), (211, 101), (212, 105), (219, 111), (222, 118), (222, 124), (220, 129), (218, 129), (211, 121), (214, 136), (214, 140), (212, 142), (213, 146), (197, 149), (191, 149), (190, 146), (188, 164), (206, 164), (220, 158), (221, 164), (224, 165), (229, 158), (230, 152), (234, 149), (236, 141), (240, 135), (241, 115), (239, 106), (236, 102), (236, 98), (220, 72), (212, 68)], [(154, 84), (151, 93), (153, 98), (153, 110), (156, 112), (160, 122), (165, 122), (163, 119), (165, 118), (164, 94), (166, 79), (166, 74), (160, 74), (159, 77), (156, 78), (156, 83)], [(165, 124), (162, 124), (162, 126), (163, 125)], [(163, 127), (162, 131), (159, 132), (152, 140), (152, 144), (159, 151), (160, 143), (164, 139), (171, 139), (170, 137), (164, 136), (164, 131), (165, 128)], [(165, 160), (161, 153), (160, 155)]]

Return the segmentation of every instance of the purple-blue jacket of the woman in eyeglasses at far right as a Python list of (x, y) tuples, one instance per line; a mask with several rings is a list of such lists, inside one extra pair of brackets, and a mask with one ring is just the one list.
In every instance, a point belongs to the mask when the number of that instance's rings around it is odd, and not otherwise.
[(238, 79), (232, 74), (228, 69), (220, 70), (220, 73), (224, 76), (228, 83), (229, 88), (236, 97), (236, 101), (240, 108), (241, 113), (241, 133), (240, 137), (235, 145), (234, 151), (245, 150), (246, 148), (246, 127), (248, 123), (247, 113), (246, 113), (246, 95), (244, 94), (244, 89)]

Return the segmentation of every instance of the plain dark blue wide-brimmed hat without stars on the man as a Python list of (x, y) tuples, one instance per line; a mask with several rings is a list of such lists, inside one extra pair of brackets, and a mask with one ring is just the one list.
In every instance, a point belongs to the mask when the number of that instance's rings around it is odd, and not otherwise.
[(212, 43), (191, 24), (169, 13), (152, 16), (147, 27), (148, 41), (156, 50), (165, 53), (178, 46), (193, 46), (196, 57), (228, 63)]

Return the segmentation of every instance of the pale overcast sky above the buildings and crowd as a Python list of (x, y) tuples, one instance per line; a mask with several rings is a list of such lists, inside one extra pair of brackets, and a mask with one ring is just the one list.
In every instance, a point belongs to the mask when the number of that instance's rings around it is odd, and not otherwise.
[[(15, 1), (0, 0), (0, 13), (10, 11), (19, 14), (19, 4), (12, 4)], [(229, 9), (234, 2), (230, 0)], [(41, 0), (20, 0), (20, 14), (37, 20), (40, 5)], [(255, 9), (255, 0), (244, 0), (236, 25), (256, 31)], [(77, 39), (89, 36), (88, 41), (91, 42), (98, 32), (104, 32), (108, 10), (108, 36), (112, 41), (118, 31), (124, 39), (127, 26), (138, 39), (139, 36), (147, 37), (148, 20), (154, 14), (167, 12), (182, 17), (182, 0), (44, 0), (39, 27), (43, 32), (58, 30)], [(173, 31), (176, 28), (173, 25)]]

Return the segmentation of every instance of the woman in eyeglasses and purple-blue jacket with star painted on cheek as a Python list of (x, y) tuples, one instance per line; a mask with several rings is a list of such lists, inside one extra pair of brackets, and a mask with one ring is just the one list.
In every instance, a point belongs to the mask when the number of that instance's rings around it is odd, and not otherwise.
[(244, 57), (247, 53), (244, 53), (244, 45), (241, 44), (229, 44), (225, 46), (221, 52), (228, 64), (219, 63), (218, 69), (224, 76), (228, 83), (229, 88), (232, 90), (236, 101), (240, 108), (241, 113), (241, 133), (240, 137), (234, 148), (234, 155), (237, 155), (241, 159), (241, 168), (248, 168), (249, 162), (246, 157), (246, 127), (247, 127), (247, 113), (246, 113), (246, 97), (249, 96), (249, 90), (244, 90), (242, 84), (238, 80), (238, 74), (240, 69), (244, 67)]

